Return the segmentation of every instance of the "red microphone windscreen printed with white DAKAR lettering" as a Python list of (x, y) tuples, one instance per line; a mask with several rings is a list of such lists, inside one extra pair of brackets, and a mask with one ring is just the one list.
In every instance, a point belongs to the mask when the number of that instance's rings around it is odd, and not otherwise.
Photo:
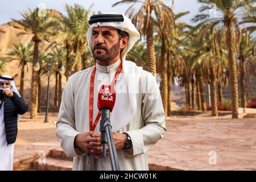
[(114, 86), (102, 85), (100, 92), (98, 93), (97, 106), (98, 110), (102, 108), (109, 109), (110, 112), (114, 109), (115, 105), (115, 90)]

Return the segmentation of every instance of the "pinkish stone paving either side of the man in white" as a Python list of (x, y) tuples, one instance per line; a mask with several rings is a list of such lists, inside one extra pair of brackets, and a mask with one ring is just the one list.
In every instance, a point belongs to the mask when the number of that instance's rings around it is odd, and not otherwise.
[[(171, 117), (166, 124), (148, 151), (152, 170), (256, 170), (256, 119)], [(15, 146), (15, 169), (29, 169), (40, 151), (59, 147), (58, 139)]]

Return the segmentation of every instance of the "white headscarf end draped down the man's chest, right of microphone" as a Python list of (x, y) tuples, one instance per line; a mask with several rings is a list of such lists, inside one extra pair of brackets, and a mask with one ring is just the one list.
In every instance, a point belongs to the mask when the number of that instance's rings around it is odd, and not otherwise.
[[(112, 113), (110, 113), (112, 131), (114, 132), (121, 130), (126, 125), (129, 125), (136, 114), (136, 91), (142, 72), (142, 67), (137, 67), (137, 65), (132, 61), (122, 60), (121, 64), (122, 72), (119, 74), (118, 81), (115, 84), (115, 106)], [(119, 65), (117, 63), (117, 65), (110, 65), (110, 67), (118, 68)], [(97, 64), (96, 68), (98, 68)], [(104, 68), (103, 71), (105, 72), (105, 67), (101, 68)], [(96, 96), (97, 94), (94, 93), (94, 97)]]

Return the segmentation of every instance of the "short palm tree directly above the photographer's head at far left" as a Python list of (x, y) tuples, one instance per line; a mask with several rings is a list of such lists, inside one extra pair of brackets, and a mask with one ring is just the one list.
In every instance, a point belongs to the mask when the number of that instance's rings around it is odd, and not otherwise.
[[(19, 86), (19, 93), (20, 96), (23, 96), (24, 90), (24, 73), (25, 67), (28, 62), (32, 61), (32, 43), (14, 43), (14, 48), (8, 53), (10, 61), (19, 60), (19, 67), (22, 68), (21, 76), (20, 76), (20, 86)], [(28, 69), (28, 67), (27, 67)]]

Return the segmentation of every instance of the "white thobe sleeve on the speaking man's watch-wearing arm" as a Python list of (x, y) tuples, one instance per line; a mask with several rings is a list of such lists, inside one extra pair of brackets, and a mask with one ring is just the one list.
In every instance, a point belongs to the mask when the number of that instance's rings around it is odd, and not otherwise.
[(124, 149), (126, 156), (134, 156), (145, 153), (154, 145), (166, 131), (165, 113), (163, 109), (162, 98), (155, 77), (148, 73), (147, 92), (143, 94), (142, 117), (144, 127), (138, 130), (127, 131), (130, 135), (133, 147)]

